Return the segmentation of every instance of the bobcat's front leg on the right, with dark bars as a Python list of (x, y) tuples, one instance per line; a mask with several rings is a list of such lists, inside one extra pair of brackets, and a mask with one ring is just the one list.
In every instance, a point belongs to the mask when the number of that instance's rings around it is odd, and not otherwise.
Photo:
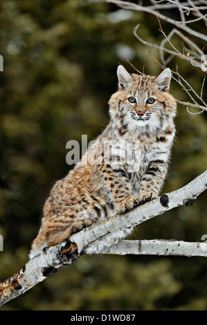
[(165, 175), (167, 173), (168, 164), (163, 160), (152, 160), (145, 174), (141, 178), (141, 189), (138, 194), (138, 205), (152, 201), (157, 198)]

